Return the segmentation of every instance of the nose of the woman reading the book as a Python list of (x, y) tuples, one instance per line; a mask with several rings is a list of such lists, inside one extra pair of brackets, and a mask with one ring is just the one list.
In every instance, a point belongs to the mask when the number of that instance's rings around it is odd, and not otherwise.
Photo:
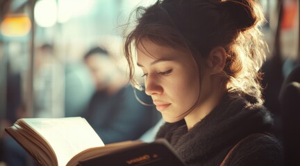
[(159, 80), (154, 75), (148, 75), (146, 78), (145, 93), (147, 95), (159, 95), (163, 93), (163, 86), (160, 85)]

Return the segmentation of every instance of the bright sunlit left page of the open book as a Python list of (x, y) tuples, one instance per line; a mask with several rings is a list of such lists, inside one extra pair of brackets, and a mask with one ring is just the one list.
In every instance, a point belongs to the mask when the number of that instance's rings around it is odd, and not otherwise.
[(56, 153), (58, 165), (65, 166), (73, 156), (85, 149), (104, 146), (94, 129), (81, 117), (22, 120), (47, 140)]

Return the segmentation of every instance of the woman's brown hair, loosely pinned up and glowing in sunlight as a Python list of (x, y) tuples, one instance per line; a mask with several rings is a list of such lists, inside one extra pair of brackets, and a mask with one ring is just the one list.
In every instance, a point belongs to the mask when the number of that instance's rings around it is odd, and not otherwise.
[[(163, 46), (192, 53), (199, 67), (210, 50), (226, 50), (221, 74), (228, 91), (261, 98), (260, 67), (265, 61), (261, 26), (263, 10), (255, 0), (158, 0), (149, 8), (137, 8), (137, 26), (126, 37), (125, 55), (134, 80), (131, 48), (144, 38)], [(201, 65), (202, 63), (202, 65)]]

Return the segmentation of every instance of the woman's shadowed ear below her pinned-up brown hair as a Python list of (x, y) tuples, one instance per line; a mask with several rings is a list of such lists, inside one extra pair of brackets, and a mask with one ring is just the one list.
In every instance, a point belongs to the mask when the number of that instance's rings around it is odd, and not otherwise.
[(208, 59), (206, 59), (208, 68), (211, 69), (212, 74), (223, 71), (226, 64), (226, 51), (222, 46), (218, 46), (210, 50)]

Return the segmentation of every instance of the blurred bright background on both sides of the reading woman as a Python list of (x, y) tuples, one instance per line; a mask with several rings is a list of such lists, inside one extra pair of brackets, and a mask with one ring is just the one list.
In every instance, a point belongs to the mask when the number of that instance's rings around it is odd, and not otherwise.
[[(18, 118), (80, 116), (97, 89), (84, 55), (101, 46), (126, 73), (122, 42), (129, 15), (135, 7), (154, 2), (0, 0), (1, 139), (3, 129)], [(299, 64), (299, 1), (260, 3), (267, 18), (263, 32), (269, 44), (262, 68), (264, 95), (281, 138), (278, 95), (285, 77)], [(160, 119), (154, 117), (147, 128)]]

